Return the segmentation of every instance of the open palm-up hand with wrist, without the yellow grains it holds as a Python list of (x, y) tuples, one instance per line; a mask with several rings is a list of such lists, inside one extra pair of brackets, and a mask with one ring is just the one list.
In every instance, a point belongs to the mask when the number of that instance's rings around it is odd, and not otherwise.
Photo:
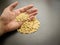
[(22, 8), (14, 10), (14, 8), (17, 6), (18, 2), (14, 2), (8, 7), (6, 7), (3, 11), (3, 13), (0, 16), (0, 33), (6, 33), (13, 31), (17, 28), (19, 28), (23, 22), (16, 22), (15, 18), (18, 16), (20, 13), (28, 13), (29, 14), (29, 19), (31, 20), (32, 18), (35, 17), (37, 14), (37, 9), (33, 6), (33, 4), (24, 6)]

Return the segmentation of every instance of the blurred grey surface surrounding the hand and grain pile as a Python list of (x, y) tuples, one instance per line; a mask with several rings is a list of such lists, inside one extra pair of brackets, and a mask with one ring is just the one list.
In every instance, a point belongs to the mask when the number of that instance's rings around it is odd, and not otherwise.
[(1, 45), (60, 45), (60, 0), (0, 0), (0, 15), (15, 1), (19, 2), (15, 9), (31, 3), (38, 8), (40, 28), (27, 35), (7, 33), (0, 38)]

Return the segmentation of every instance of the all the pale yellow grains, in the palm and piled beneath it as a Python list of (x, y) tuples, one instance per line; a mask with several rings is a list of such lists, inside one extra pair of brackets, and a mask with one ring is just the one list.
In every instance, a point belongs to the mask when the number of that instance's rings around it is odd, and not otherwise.
[(40, 26), (40, 22), (34, 18), (33, 20), (28, 20), (29, 15), (25, 13), (21, 13), (19, 16), (16, 17), (16, 21), (24, 21), (20, 29), (17, 31), (22, 34), (30, 34), (36, 32)]

